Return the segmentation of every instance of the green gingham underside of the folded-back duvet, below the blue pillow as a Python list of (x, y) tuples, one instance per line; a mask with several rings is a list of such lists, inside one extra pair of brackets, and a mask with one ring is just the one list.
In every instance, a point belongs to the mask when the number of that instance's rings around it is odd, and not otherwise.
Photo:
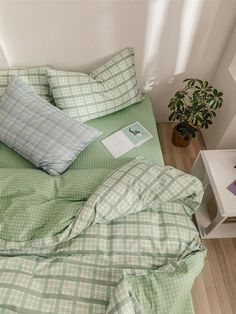
[(61, 233), (109, 173), (68, 170), (53, 177), (35, 169), (1, 169), (0, 239), (20, 243)]

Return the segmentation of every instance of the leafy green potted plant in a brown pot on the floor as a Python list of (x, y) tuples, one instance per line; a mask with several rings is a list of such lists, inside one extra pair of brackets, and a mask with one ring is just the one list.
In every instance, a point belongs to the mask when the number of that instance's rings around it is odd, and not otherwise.
[(173, 129), (172, 142), (176, 146), (187, 146), (199, 128), (207, 129), (215, 118), (215, 110), (223, 103), (223, 93), (207, 81), (188, 78), (185, 86), (171, 98), (168, 107), (172, 111), (169, 121), (180, 122)]

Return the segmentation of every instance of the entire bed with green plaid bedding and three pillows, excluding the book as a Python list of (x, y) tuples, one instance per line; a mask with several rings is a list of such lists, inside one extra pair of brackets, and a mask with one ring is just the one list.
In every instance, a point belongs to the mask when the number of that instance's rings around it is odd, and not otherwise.
[[(193, 313), (202, 184), (164, 166), (134, 49), (2, 69), (0, 96), (0, 313)], [(101, 140), (136, 121), (153, 138), (114, 159)]]

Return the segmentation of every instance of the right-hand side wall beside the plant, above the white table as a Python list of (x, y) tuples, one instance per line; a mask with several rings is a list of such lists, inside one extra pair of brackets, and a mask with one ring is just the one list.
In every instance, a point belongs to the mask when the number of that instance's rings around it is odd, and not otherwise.
[(224, 93), (224, 103), (217, 112), (211, 128), (203, 132), (207, 148), (236, 148), (236, 81), (230, 73), (230, 65), (235, 55), (236, 26), (228, 45), (225, 47), (224, 55), (212, 81)]

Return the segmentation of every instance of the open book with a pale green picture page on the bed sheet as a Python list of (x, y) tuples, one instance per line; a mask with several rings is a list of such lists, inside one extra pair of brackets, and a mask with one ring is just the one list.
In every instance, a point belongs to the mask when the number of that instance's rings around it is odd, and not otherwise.
[(102, 143), (114, 158), (118, 158), (152, 137), (152, 134), (136, 121), (106, 137)]

